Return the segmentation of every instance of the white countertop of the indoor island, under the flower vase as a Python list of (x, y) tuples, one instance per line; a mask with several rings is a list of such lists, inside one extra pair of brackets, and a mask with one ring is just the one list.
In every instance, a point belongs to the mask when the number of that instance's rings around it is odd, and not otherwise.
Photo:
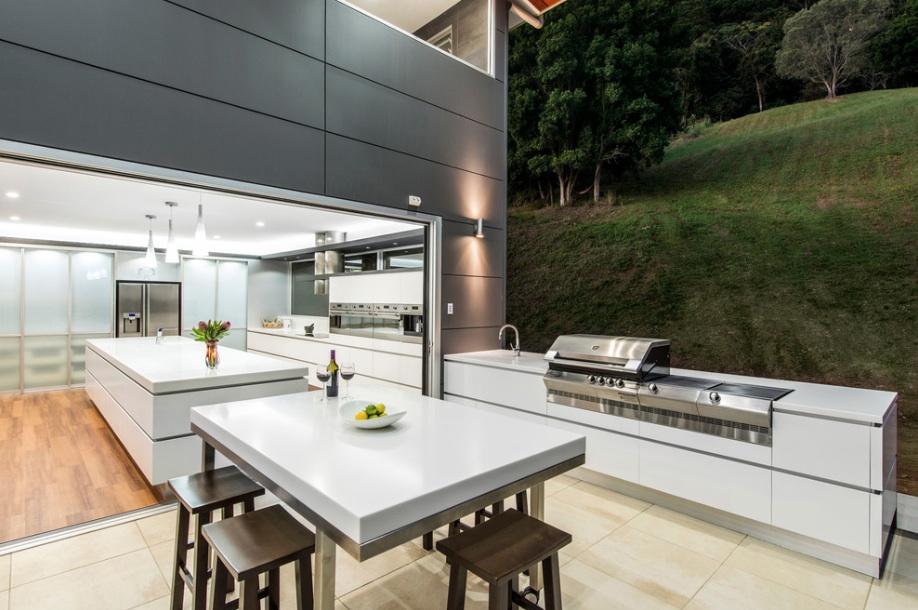
[(86, 348), (112, 363), (151, 394), (170, 394), (302, 378), (308, 367), (220, 346), (220, 365), (204, 365), (203, 343), (185, 337), (90, 339)]

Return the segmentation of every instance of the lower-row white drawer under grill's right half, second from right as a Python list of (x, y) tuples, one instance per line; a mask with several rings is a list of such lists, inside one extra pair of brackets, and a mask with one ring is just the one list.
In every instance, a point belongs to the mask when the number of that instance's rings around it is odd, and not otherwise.
[(771, 522), (771, 471), (641, 441), (640, 484), (762, 523)]

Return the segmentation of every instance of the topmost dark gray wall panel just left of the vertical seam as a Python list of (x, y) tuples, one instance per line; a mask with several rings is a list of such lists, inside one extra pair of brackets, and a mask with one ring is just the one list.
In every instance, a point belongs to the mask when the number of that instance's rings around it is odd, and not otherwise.
[(246, 32), (325, 57), (325, 0), (170, 0)]

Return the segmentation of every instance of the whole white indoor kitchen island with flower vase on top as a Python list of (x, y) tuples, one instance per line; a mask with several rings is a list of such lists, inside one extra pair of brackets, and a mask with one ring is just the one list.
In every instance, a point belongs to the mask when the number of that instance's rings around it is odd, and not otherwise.
[(204, 345), (184, 337), (86, 342), (86, 393), (152, 485), (200, 471), (191, 407), (309, 388), (305, 365), (219, 349), (220, 365), (209, 370)]

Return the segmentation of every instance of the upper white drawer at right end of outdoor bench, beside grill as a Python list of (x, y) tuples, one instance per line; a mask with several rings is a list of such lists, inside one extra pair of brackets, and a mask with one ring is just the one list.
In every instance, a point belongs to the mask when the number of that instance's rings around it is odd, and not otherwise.
[(872, 427), (788, 413), (773, 417), (775, 468), (870, 487)]

